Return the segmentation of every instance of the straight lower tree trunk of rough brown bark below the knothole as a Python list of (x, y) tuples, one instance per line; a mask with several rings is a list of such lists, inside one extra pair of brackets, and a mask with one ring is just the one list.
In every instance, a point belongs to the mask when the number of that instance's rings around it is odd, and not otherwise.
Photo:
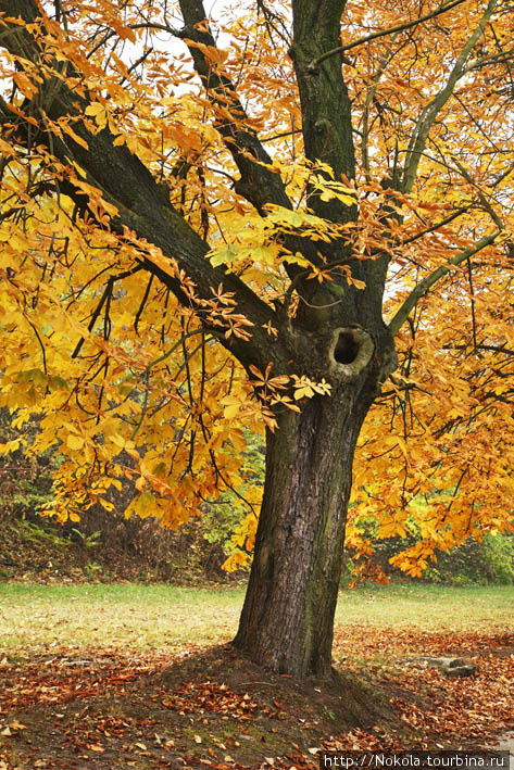
[(267, 436), (255, 552), (234, 644), (296, 678), (330, 672), (352, 463), (373, 401), (363, 383), (286, 412)]

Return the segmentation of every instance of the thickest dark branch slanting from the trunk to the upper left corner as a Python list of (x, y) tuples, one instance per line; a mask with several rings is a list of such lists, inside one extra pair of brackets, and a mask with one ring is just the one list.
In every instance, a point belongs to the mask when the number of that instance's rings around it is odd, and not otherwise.
[[(34, 0), (0, 0), (0, 12), (8, 17), (21, 16), (26, 24), (34, 23), (40, 16)], [(35, 63), (39, 60), (40, 47), (26, 27), (8, 23), (2, 34), (1, 45), (11, 53)], [(45, 100), (49, 80), (42, 70), (41, 75), (46, 79), (38, 96)], [(55, 121), (63, 116), (76, 118), (84, 115), (90, 103), (87, 99), (72, 91), (64, 83), (61, 83), (59, 88), (55, 88), (54, 81), (51, 86), (52, 101), (46, 104), (50, 119)], [(26, 105), (26, 109), (28, 106)], [(88, 182), (99, 188), (104, 199), (116, 206), (118, 216), (113, 220), (113, 227), (122, 229), (126, 226), (139, 238), (153, 243), (165, 255), (175, 258), (179, 267), (195, 282), (200, 299), (212, 301), (213, 291), (217, 292), (220, 286), (223, 287), (224, 292), (234, 293), (234, 299), (238, 303), (237, 312), (253, 324), (250, 342), (234, 336), (229, 340), (221, 338), (222, 343), (236, 357), (245, 365), (253, 363), (260, 367), (273, 359), (274, 354), (278, 354), (279, 343), (276, 343), (274, 350), (263, 326), (268, 323), (276, 325), (274, 311), (237, 276), (227, 273), (223, 266), (214, 268), (211, 265), (205, 258), (210, 250), (209, 244), (177, 213), (141, 161), (126, 147), (113, 144), (114, 137), (108, 128), (92, 135), (82, 121), (75, 121), (73, 125), (74, 131), (87, 142), (88, 149), (68, 137), (64, 141), (52, 136), (50, 141), (45, 130), (41, 130), (38, 141), (47, 143), (50, 151), (63, 164), (67, 165), (71, 159), (75, 160), (87, 172)], [(87, 203), (87, 197), (73, 184), (66, 184), (65, 192), (79, 205), (84, 206)], [(149, 258), (142, 257), (142, 262), (145, 268), (168, 287), (179, 302), (190, 305), (178, 278), (170, 275)], [(173, 270), (171, 273), (173, 274)], [(220, 336), (220, 328), (211, 328), (208, 321), (205, 327)]]

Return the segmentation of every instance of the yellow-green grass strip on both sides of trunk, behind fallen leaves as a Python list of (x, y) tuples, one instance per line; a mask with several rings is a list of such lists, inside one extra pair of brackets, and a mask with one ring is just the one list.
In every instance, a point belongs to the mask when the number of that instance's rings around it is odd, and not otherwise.
[[(171, 585), (0, 583), (0, 649), (141, 652), (227, 642), (245, 590)], [(514, 586), (402, 584), (340, 594), (336, 624), (502, 631), (514, 629)]]

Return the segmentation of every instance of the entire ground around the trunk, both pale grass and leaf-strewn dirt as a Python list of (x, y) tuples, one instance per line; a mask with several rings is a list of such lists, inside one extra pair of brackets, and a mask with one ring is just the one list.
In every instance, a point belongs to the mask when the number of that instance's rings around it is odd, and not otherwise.
[[(514, 586), (342, 591), (341, 677), (302, 683), (224, 644), (243, 595), (0, 583), (0, 770), (315, 770), (322, 750), (510, 742)], [(427, 654), (469, 656), (476, 676)]]

